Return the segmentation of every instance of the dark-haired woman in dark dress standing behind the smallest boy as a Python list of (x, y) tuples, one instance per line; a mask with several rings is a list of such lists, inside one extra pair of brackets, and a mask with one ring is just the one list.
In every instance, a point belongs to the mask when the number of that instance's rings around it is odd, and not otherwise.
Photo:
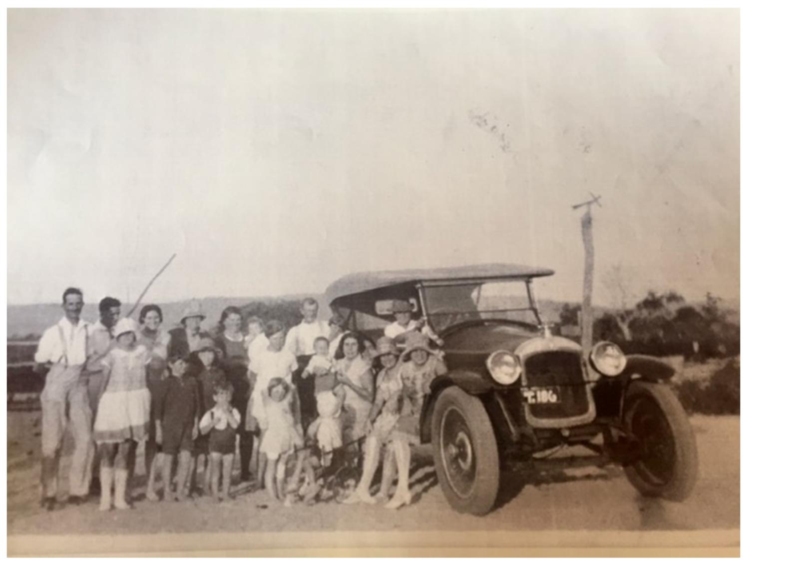
[[(217, 332), (217, 346), (223, 352), (221, 368), (225, 371), (225, 376), (233, 384), (233, 408), (240, 414), (247, 412), (252, 386), (248, 380), (247, 367), (247, 347), (244, 344), (244, 334), (241, 332), (243, 316), (236, 306), (228, 306), (222, 311), (219, 320), (219, 331)], [(239, 456), (241, 463), (242, 482), (252, 479), (250, 472), (250, 461), (252, 460), (252, 432), (248, 432), (244, 427), (244, 418), (237, 429), (239, 436)]]

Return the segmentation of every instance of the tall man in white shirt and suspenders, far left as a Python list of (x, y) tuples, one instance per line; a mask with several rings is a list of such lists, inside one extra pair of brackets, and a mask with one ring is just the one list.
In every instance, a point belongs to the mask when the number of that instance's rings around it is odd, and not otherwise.
[(54, 510), (58, 460), (66, 428), (74, 438), (70, 465), (70, 503), (85, 502), (91, 477), (92, 411), (87, 379), (82, 374), (89, 344), (89, 324), (81, 320), (83, 292), (62, 294), (64, 317), (47, 328), (34, 360), (39, 372), (48, 367), (42, 391), (42, 507)]

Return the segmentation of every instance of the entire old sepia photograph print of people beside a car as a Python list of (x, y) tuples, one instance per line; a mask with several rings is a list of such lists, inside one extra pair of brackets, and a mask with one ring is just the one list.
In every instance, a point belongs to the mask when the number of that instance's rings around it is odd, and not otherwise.
[(7, 10), (7, 553), (739, 555), (740, 10)]

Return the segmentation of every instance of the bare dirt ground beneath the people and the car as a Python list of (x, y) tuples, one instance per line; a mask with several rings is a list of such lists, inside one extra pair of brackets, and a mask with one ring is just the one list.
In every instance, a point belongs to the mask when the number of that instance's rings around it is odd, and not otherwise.
[[(80, 507), (45, 512), (38, 508), (39, 413), (8, 412), (8, 535), (296, 532), (344, 528), (350, 531), (737, 529), (741, 514), (740, 419), (694, 416), (691, 421), (697, 435), (700, 475), (694, 493), (684, 503), (643, 499), (621, 469), (582, 468), (539, 475), (526, 484), (503, 491), (503, 503), (485, 517), (461, 515), (447, 505), (436, 483), (432, 461), (422, 453), (416, 458), (411, 475), (413, 503), (399, 511), (337, 503), (264, 507), (260, 493), (240, 490), (228, 506), (212, 503), (208, 498), (151, 503), (144, 499), (140, 457), (133, 510), (100, 512), (95, 498)], [(62, 471), (66, 471), (68, 460), (68, 456), (62, 458)], [(64, 497), (66, 493), (61, 495)]]

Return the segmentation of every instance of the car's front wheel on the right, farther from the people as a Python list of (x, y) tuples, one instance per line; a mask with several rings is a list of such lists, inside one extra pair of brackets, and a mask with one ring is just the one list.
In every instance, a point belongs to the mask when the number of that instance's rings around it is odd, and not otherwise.
[(638, 451), (624, 468), (645, 496), (682, 501), (696, 484), (699, 456), (694, 428), (665, 384), (635, 381), (627, 389), (624, 427)]

